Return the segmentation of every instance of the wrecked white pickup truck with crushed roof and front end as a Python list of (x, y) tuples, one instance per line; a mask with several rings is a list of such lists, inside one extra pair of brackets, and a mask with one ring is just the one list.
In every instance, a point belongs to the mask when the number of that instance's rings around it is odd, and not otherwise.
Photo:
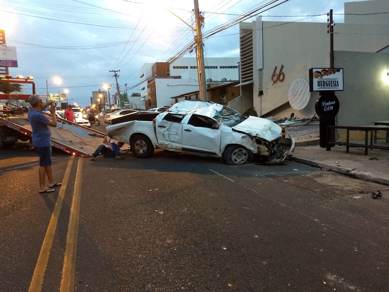
[(268, 164), (292, 155), (294, 139), (280, 136), (281, 127), (270, 120), (249, 118), (213, 102), (181, 100), (154, 121), (128, 121), (107, 131), (129, 143), (133, 155), (148, 158), (154, 149), (209, 157), (227, 164), (249, 163), (255, 157)]

